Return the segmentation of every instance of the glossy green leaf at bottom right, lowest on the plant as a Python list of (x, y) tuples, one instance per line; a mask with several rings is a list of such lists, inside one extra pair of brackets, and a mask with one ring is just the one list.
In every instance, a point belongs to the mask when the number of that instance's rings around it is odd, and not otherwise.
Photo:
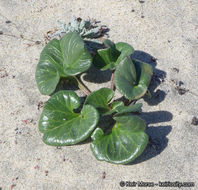
[(135, 160), (146, 148), (148, 136), (145, 122), (137, 116), (119, 116), (114, 118), (111, 133), (104, 134), (96, 128), (92, 134), (91, 150), (101, 161), (115, 164), (127, 164)]

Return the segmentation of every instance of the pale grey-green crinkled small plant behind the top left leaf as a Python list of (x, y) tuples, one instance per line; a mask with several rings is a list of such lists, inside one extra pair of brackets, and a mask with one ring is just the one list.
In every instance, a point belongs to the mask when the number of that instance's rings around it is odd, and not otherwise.
[(73, 20), (65, 24), (58, 22), (58, 31), (53, 36), (63, 37), (68, 32), (77, 32), (82, 38), (95, 39), (102, 37), (107, 31), (107, 27), (98, 25), (96, 19), (83, 20), (82, 18), (74, 17)]

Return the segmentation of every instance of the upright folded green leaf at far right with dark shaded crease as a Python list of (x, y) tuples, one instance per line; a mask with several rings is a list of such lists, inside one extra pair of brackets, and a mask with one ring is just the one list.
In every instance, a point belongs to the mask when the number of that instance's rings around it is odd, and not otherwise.
[(115, 71), (115, 86), (126, 98), (139, 99), (147, 92), (152, 74), (149, 64), (125, 57)]

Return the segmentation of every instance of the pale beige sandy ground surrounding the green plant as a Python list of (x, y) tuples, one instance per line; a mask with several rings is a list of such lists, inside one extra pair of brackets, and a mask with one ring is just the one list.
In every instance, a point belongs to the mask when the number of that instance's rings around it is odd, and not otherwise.
[[(130, 43), (133, 56), (155, 66), (153, 97), (140, 100), (150, 143), (132, 164), (99, 162), (89, 143), (59, 149), (41, 140), (38, 104), (48, 97), (37, 89), (36, 65), (44, 34), (73, 15), (100, 20), (112, 40)], [(195, 182), (180, 189), (198, 189), (198, 126), (191, 124), (198, 117), (197, 0), (0, 0), (0, 31), (0, 190), (177, 189), (120, 181)], [(109, 85), (108, 72), (103, 80), (91, 73), (84, 77), (96, 79), (91, 90)], [(180, 95), (182, 82), (189, 91)]]

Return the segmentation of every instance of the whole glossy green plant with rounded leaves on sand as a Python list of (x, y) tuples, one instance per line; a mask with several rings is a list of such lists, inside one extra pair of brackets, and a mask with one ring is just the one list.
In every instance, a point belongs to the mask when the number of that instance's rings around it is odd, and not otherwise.
[[(95, 157), (115, 164), (129, 163), (144, 151), (148, 136), (145, 122), (134, 114), (142, 104), (135, 101), (147, 92), (152, 67), (131, 60), (133, 51), (127, 43), (105, 40), (104, 47), (95, 50), (92, 58), (76, 32), (53, 39), (44, 47), (36, 68), (36, 82), (42, 94), (54, 93), (45, 103), (39, 121), (44, 143), (73, 145), (91, 137)], [(79, 75), (92, 63), (101, 70), (112, 70), (112, 83), (127, 101), (112, 101), (114, 87), (92, 93), (85, 88)], [(83, 105), (71, 90), (55, 92), (61, 78), (77, 81), (87, 95)]]

